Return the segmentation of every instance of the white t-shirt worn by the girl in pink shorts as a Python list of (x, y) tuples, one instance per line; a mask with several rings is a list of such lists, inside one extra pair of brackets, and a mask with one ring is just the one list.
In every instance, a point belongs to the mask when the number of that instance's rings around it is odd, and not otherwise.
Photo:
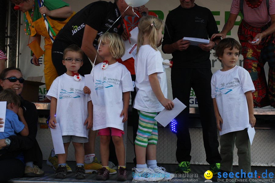
[(103, 103), (94, 105), (93, 130), (106, 127), (123, 130), (123, 116), (120, 117), (123, 109), (122, 93), (134, 91), (130, 72), (116, 62), (105, 70), (101, 69), (101, 64), (97, 64), (91, 74), (97, 97)]

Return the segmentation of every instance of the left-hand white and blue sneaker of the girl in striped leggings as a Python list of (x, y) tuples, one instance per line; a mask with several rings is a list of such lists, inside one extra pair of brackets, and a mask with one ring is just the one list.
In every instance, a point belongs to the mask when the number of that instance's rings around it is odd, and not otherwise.
[(163, 179), (164, 176), (161, 174), (156, 174), (152, 168), (145, 168), (144, 170), (138, 171), (138, 168), (135, 168), (135, 173), (133, 174), (133, 180), (137, 181), (149, 181), (156, 182)]

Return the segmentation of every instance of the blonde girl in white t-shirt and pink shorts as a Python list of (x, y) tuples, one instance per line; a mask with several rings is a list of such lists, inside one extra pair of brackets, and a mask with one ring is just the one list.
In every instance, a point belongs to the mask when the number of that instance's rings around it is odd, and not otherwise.
[[(118, 160), (117, 180), (126, 181), (125, 147), (122, 134), (124, 133), (123, 123), (128, 118), (130, 91), (134, 90), (132, 78), (127, 68), (116, 61), (125, 52), (122, 38), (118, 34), (105, 33), (101, 35), (98, 43), (98, 54), (105, 61), (94, 66), (91, 72), (91, 79), (95, 84), (94, 89), (102, 103), (93, 106), (93, 130), (98, 130), (100, 136), (102, 162), (102, 168), (98, 170), (96, 179), (107, 180), (109, 178), (109, 143), (112, 136)], [(84, 93), (90, 93), (90, 89), (86, 86), (83, 90)]]

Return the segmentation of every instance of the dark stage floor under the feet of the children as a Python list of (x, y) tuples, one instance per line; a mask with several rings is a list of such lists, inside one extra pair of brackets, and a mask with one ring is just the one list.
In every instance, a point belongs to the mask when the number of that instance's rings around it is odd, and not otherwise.
[[(16, 178), (9, 180), (9, 183), (72, 183), (72, 182), (105, 182), (105, 183), (113, 183), (113, 182), (121, 182), (116, 180), (117, 174), (110, 175), (110, 179), (107, 181), (97, 181), (95, 179), (96, 174), (86, 174), (86, 179), (84, 180), (76, 180), (75, 179), (75, 162), (68, 161), (68, 165), (72, 168), (72, 172), (67, 174), (65, 179), (56, 179), (54, 178), (54, 170), (46, 164), (46, 161), (43, 163), (42, 170), (45, 171), (45, 175), (42, 177), (36, 178)], [(165, 167), (167, 172), (174, 172), (177, 165), (176, 164), (158, 164), (158, 166)], [(134, 182), (132, 177), (132, 168), (134, 167), (134, 163), (127, 163), (128, 176), (127, 181), (125, 183)], [(189, 174), (178, 174), (177, 177), (173, 178), (171, 181), (167, 182), (204, 182), (204, 173), (209, 169), (209, 165), (191, 165), (191, 173)], [(257, 178), (255, 178), (255, 170), (257, 172)], [(233, 166), (233, 173), (238, 172), (238, 166)], [(251, 171), (253, 172), (253, 177), (251, 178), (251, 182), (274, 182), (275, 178), (269, 178), (269, 174), (272, 172), (275, 174), (275, 167), (251, 167)], [(267, 172), (268, 178), (262, 178), (262, 173)], [(179, 176), (180, 175), (180, 176)], [(265, 174), (264, 174), (265, 175)], [(260, 178), (259, 178), (260, 176)], [(234, 182), (236, 178), (229, 178), (228, 182)], [(248, 178), (249, 179), (249, 178)]]

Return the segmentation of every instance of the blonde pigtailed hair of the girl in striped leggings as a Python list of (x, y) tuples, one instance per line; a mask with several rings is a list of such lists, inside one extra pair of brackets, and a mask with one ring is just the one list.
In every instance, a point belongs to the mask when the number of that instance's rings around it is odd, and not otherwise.
[(138, 48), (144, 42), (144, 37), (148, 36), (150, 40), (150, 46), (157, 50), (158, 43), (158, 31), (163, 28), (163, 21), (155, 16), (143, 16), (138, 23)]

